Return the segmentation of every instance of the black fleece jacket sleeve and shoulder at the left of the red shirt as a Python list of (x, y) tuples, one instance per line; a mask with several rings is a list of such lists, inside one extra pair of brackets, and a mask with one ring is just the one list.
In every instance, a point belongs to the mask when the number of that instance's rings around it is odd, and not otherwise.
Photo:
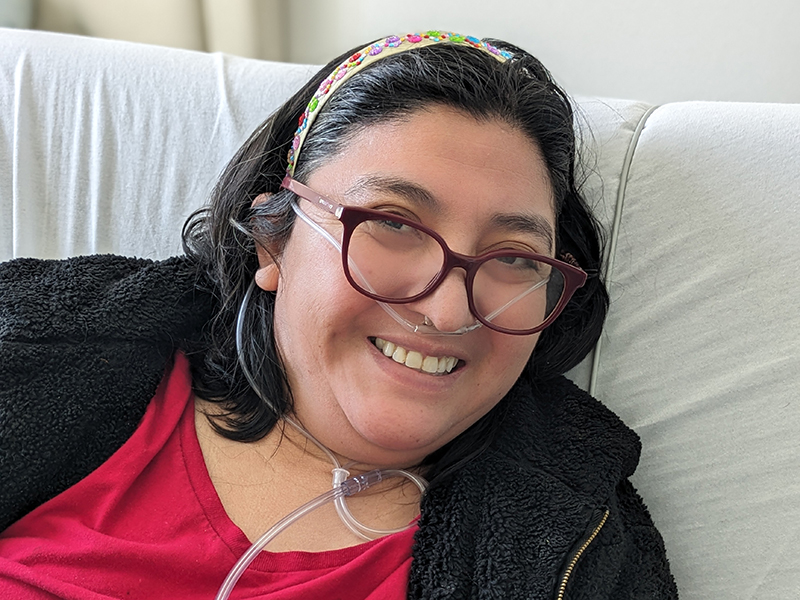
[(0, 530), (134, 431), (177, 340), (207, 318), (185, 259), (0, 265)]

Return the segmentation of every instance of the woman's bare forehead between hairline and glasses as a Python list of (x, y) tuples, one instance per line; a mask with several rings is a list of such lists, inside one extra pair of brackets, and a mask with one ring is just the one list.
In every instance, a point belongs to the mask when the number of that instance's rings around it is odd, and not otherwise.
[(396, 180), (425, 190), (430, 208), (488, 218), (533, 212), (554, 222), (550, 178), (538, 146), (497, 119), (432, 107), (353, 135), (308, 183), (358, 200), (365, 182)]

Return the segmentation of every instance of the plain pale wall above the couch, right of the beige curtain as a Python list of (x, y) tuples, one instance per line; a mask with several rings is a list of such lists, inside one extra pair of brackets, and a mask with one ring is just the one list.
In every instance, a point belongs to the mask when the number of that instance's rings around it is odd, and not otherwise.
[(573, 94), (800, 102), (797, 0), (291, 0), (289, 58), (405, 30), (499, 37)]

